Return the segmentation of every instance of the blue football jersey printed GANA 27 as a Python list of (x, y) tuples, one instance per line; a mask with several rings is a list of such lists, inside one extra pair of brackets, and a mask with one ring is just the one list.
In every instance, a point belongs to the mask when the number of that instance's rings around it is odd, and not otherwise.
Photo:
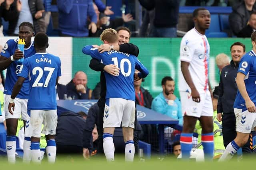
[(18, 76), (30, 77), (28, 110), (54, 110), (56, 79), (61, 76), (60, 58), (48, 53), (36, 53), (23, 61)]

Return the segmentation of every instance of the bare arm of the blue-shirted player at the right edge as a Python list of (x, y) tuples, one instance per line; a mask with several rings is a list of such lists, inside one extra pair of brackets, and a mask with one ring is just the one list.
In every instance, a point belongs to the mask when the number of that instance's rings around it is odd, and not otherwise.
[(240, 92), (240, 94), (242, 95), (242, 97), (245, 100), (245, 105), (246, 108), (248, 109), (249, 112), (256, 112), (256, 107), (254, 102), (252, 102), (252, 100), (250, 99), (247, 91), (246, 91), (246, 86), (244, 83), (244, 78), (245, 78), (245, 74), (243, 74), (242, 72), (238, 72), (237, 76), (236, 76), (236, 84), (237, 84), (237, 88)]

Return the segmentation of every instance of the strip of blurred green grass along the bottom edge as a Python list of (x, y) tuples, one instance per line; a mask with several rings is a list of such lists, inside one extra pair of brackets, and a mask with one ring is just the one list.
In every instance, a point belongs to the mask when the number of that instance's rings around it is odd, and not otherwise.
[(124, 156), (116, 156), (114, 162), (106, 162), (104, 156), (93, 156), (84, 160), (80, 156), (62, 156), (56, 159), (55, 164), (48, 164), (44, 158), (40, 165), (23, 164), (17, 159), (16, 164), (8, 164), (6, 157), (0, 157), (1, 170), (245, 170), (255, 169), (254, 156), (244, 157), (240, 162), (234, 158), (230, 162), (184, 162), (171, 156), (154, 156), (140, 162), (135, 158), (133, 163), (124, 162)]

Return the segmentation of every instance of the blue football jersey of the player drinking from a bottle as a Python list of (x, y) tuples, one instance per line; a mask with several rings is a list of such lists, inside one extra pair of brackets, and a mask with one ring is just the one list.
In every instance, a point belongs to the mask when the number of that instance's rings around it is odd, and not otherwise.
[[(4, 48), (2, 49), (1, 55), (9, 58), (14, 55), (16, 49), (18, 49), (18, 40), (19, 39), (9, 39)], [(34, 55), (36, 53), (34, 49), (34, 41), (31, 42), (30, 47), (24, 49), (24, 59)], [(12, 94), (12, 88), (14, 84), (18, 80), (18, 72), (20, 71), (22, 63), (18, 61), (13, 61), (7, 68), (6, 71), (6, 79), (5, 79), (5, 86), (4, 86), (4, 94)], [(17, 98), (20, 99), (28, 99), (29, 93), (29, 80), (28, 78), (24, 81), (20, 93), (17, 95)]]

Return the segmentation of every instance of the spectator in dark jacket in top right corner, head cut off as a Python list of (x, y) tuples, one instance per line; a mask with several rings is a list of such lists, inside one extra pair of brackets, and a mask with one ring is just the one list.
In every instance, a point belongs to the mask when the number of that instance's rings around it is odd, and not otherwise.
[(250, 14), (256, 10), (255, 0), (244, 0), (232, 7), (232, 13), (229, 15), (229, 25), (234, 35), (238, 35), (250, 18)]

